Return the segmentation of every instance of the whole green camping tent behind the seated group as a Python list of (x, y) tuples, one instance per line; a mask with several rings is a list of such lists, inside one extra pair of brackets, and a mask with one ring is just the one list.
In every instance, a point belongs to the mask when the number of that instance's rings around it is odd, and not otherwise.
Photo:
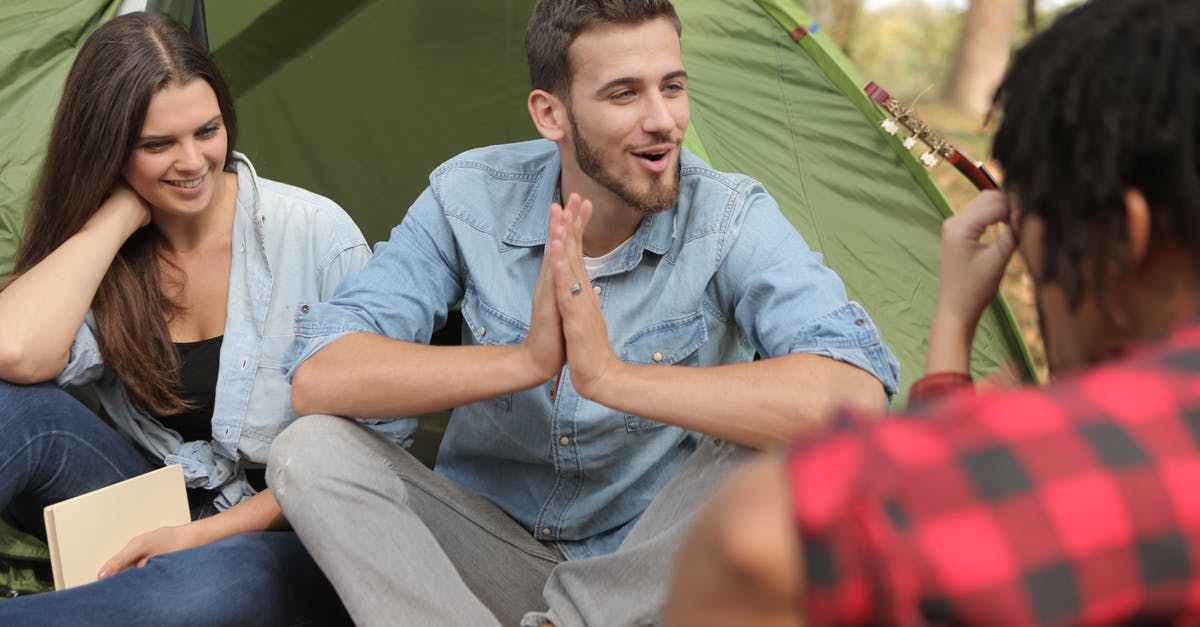
[[(44, 151), (55, 98), (84, 35), (114, 1), (0, 6), (0, 274)], [(336, 199), (385, 239), (438, 163), (535, 137), (526, 111), (533, 0), (208, 2), (208, 38), (238, 98), (239, 149), (260, 173)], [(883, 133), (863, 80), (791, 0), (677, 0), (691, 79), (686, 145), (761, 180), (846, 281), (901, 362), (924, 365), (949, 214), (928, 172)], [(1002, 300), (980, 323), (977, 374), (1025, 345)], [(901, 407), (904, 396), (894, 407)]]

